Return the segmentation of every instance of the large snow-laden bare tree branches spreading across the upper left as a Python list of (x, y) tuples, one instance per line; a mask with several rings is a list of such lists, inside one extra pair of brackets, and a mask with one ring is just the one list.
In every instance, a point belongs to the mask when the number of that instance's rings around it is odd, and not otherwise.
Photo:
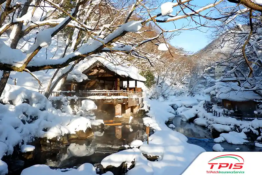
[[(26, 71), (38, 80), (35, 71), (56, 69), (48, 86), (50, 93), (77, 63), (93, 55), (121, 53), (150, 62), (155, 56), (146, 55), (145, 46), (154, 44), (159, 48), (160, 43), (166, 46), (164, 38), (208, 25), (201, 24), (201, 19), (211, 16), (211, 9), (223, 2), (195, 7), (191, 1), (166, 2), (161, 5), (160, 13), (155, 1), (1, 1), (0, 94), (10, 71)], [(205, 16), (200, 14), (204, 11)], [(188, 24), (174, 30), (160, 27), (160, 23), (185, 18), (190, 19)], [(152, 31), (144, 26), (150, 25), (158, 30), (153, 32), (154, 37), (148, 38), (144, 34)], [(164, 50), (172, 55), (169, 48)]]

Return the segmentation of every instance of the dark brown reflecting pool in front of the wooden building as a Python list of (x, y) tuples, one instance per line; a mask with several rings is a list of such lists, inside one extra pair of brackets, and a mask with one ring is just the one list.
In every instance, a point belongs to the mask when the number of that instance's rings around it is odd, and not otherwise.
[(28, 160), (8, 160), (8, 175), (19, 175), (23, 169), (37, 164), (66, 169), (78, 167), (84, 163), (100, 163), (106, 156), (118, 152), (118, 148), (122, 145), (128, 145), (137, 139), (144, 140), (142, 118), (133, 118), (131, 123), (136, 124), (95, 130), (93, 138), (69, 140), (69, 146), (38, 152)]

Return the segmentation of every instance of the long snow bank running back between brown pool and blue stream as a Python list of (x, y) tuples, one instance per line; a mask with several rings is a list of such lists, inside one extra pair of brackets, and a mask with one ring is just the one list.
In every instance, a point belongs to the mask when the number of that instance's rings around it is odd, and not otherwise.
[[(187, 143), (186, 136), (177, 131), (173, 131), (165, 125), (166, 121), (175, 116), (175, 111), (169, 106), (169, 102), (170, 101), (160, 102), (158, 100), (144, 98), (143, 109), (148, 111), (147, 115), (149, 117), (144, 117), (143, 122), (144, 125), (154, 129), (155, 133), (149, 137), (148, 145), (147, 142), (144, 142), (139, 150), (136, 149), (136, 151), (134, 151), (137, 156), (130, 154), (130, 152), (125, 153), (129, 156), (129, 162), (135, 160), (135, 167), (128, 172), (129, 175), (136, 175), (138, 172), (159, 175), (174, 174), (174, 172), (176, 172), (176, 174), (182, 174), (191, 161), (194, 160), (198, 154), (205, 151), (202, 147)], [(148, 109), (149, 107), (150, 110)], [(144, 159), (144, 156), (141, 157), (141, 154), (159, 156), (159, 158), (158, 161), (151, 162)], [(110, 156), (110, 161), (108, 161), (109, 158), (107, 158), (108, 162), (104, 163), (103, 166), (115, 163), (115, 160), (118, 160), (118, 157), (114, 157), (114, 154)], [(119, 166), (120, 162), (115, 165)]]

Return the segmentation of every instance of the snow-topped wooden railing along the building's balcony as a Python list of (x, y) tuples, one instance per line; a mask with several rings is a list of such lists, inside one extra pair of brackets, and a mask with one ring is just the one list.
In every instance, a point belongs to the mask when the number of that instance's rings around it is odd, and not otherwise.
[[(44, 91), (39, 91), (44, 94)], [(126, 91), (126, 90), (92, 90), (92, 91), (53, 91), (50, 96), (58, 97), (59, 95), (71, 96), (74, 95), (78, 98), (87, 98), (90, 96), (125, 96), (131, 93), (133, 96), (142, 97), (142, 92), (137, 91)]]

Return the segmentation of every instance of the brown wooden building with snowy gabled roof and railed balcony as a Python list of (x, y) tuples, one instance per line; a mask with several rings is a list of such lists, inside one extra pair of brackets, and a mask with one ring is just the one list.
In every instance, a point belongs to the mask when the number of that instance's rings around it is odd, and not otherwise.
[[(102, 57), (84, 59), (68, 75), (63, 91), (74, 91), (81, 99), (93, 100), (97, 108), (115, 109), (115, 116), (136, 113), (142, 103), (142, 82), (137, 68)], [(129, 84), (133, 84), (130, 87)], [(79, 104), (80, 105), (80, 104)]]

